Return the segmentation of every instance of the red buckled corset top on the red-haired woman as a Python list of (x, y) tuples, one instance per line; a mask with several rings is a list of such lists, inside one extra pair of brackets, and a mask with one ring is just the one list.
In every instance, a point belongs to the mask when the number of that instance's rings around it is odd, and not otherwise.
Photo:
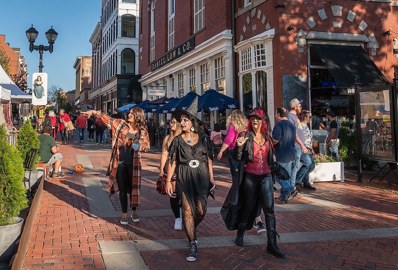
[(269, 142), (262, 146), (253, 141), (253, 162), (246, 162), (244, 172), (250, 174), (270, 174), (271, 169), (268, 164)]

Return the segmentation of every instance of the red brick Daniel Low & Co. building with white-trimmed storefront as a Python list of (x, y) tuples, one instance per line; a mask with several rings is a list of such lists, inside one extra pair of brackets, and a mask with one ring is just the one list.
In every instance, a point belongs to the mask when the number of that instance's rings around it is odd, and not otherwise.
[[(398, 71), (398, 1), (149, 1), (141, 16), (144, 99), (157, 98), (146, 95), (154, 88), (174, 97), (219, 87), (244, 111), (273, 115), (297, 97), (313, 114), (333, 110), (352, 119), (353, 78), (387, 84)], [(192, 39), (194, 48), (175, 58), (179, 44)], [(225, 85), (217, 81), (221, 56)]]

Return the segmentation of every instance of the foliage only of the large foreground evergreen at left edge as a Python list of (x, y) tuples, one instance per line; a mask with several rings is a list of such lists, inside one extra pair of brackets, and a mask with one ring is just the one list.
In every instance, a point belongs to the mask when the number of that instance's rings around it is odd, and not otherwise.
[(17, 149), (7, 143), (5, 125), (0, 126), (0, 226), (10, 225), (12, 218), (27, 208), (23, 160)]

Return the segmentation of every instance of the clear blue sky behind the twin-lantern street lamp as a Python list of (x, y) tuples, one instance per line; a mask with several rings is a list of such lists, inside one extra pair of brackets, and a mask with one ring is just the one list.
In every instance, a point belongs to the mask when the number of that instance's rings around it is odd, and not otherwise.
[(28, 87), (31, 75), (39, 72), (39, 52), (29, 52), (25, 31), (33, 23), (39, 31), (35, 45), (48, 46), (45, 32), (58, 32), (54, 52), (43, 54), (43, 72), (48, 73), (48, 85), (59, 85), (65, 91), (75, 89), (76, 56), (91, 56), (90, 36), (101, 15), (101, 0), (1, 0), (0, 34), (6, 35), (11, 47), (21, 48), (28, 65)]

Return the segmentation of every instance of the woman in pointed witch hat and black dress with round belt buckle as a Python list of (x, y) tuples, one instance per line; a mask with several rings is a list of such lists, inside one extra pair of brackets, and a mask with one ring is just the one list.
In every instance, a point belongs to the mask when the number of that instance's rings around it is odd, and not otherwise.
[[(192, 108), (191, 108), (192, 107)], [(187, 110), (176, 110), (174, 117), (181, 123), (182, 133), (174, 138), (170, 149), (166, 192), (173, 193), (171, 178), (176, 171), (176, 193), (180, 199), (182, 222), (189, 240), (187, 260), (197, 255), (195, 230), (207, 210), (209, 191), (215, 188), (213, 178), (213, 147), (209, 136), (201, 133), (197, 111), (197, 97)]]

